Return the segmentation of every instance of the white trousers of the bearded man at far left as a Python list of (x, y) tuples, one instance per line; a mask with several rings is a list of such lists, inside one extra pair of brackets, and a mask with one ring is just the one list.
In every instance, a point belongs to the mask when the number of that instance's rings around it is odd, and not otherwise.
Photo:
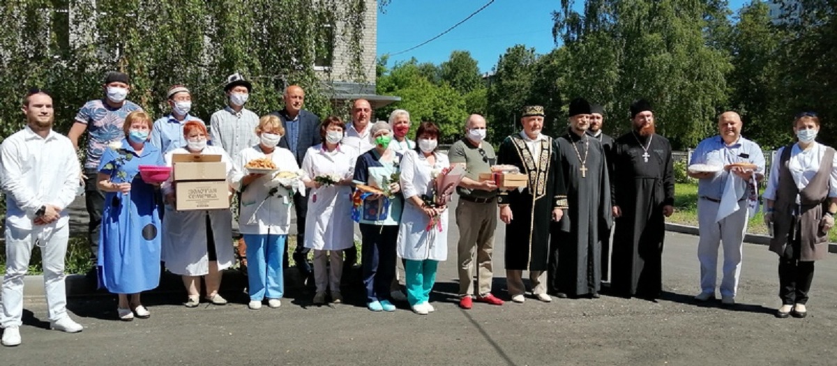
[[(23, 323), (23, 277), (29, 268), (29, 259), (39, 231), (6, 227), (6, 276), (3, 277), (3, 312), (0, 313), (0, 325), (3, 328), (19, 327)], [(44, 263), (44, 290), (50, 322), (67, 316), (67, 294), (64, 287), (67, 241), (69, 225), (52, 231), (51, 235), (38, 242)]]

